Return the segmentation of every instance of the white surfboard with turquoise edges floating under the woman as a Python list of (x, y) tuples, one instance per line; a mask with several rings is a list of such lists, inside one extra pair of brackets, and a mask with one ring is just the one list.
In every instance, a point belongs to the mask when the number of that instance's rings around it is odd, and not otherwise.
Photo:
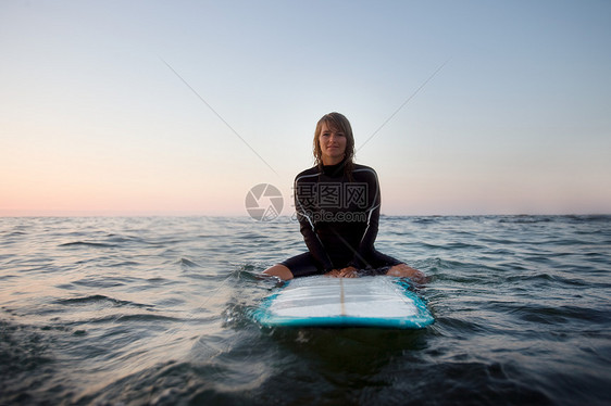
[(399, 278), (297, 278), (253, 312), (265, 327), (379, 327), (420, 329), (435, 321)]

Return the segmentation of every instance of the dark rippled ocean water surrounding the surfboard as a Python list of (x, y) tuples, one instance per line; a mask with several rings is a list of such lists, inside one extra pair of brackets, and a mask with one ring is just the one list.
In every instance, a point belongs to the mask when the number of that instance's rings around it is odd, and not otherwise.
[(611, 216), (383, 217), (422, 330), (269, 329), (298, 225), (1, 218), (0, 405), (611, 403)]

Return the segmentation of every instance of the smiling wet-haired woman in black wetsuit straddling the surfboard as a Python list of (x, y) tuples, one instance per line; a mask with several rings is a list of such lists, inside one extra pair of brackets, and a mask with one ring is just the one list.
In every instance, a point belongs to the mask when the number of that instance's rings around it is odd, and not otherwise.
[(319, 120), (314, 157), (316, 165), (295, 179), (295, 210), (308, 252), (264, 274), (283, 280), (385, 274), (424, 281), (421, 271), (374, 248), (381, 202), (377, 175), (353, 163), (354, 137), (344, 115), (329, 113)]

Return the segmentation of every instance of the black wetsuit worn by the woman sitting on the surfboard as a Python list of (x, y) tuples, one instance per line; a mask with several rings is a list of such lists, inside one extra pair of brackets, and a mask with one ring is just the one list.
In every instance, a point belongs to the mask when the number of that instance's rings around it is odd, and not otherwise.
[(374, 248), (379, 219), (379, 185), (369, 166), (317, 166), (295, 178), (295, 210), (308, 252), (282, 264), (295, 277), (353, 266), (375, 272), (401, 264)]

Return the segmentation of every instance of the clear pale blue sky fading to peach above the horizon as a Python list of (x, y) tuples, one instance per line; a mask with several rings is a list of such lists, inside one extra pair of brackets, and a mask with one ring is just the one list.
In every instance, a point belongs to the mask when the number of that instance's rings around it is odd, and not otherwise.
[(384, 214), (611, 213), (608, 0), (0, 0), (0, 216), (290, 215), (332, 111)]

